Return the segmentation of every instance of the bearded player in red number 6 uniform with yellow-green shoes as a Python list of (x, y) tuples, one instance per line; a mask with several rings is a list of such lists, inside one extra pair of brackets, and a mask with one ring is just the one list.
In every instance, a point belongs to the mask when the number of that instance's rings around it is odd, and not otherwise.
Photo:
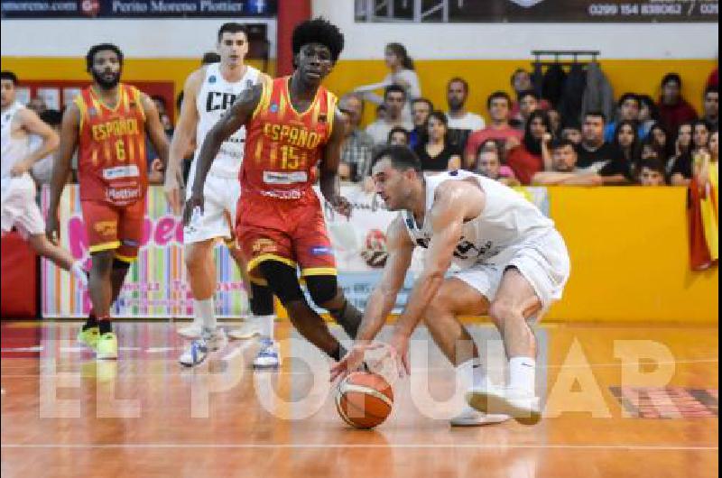
[(47, 234), (57, 241), (58, 205), (78, 148), (80, 203), (93, 265), (88, 289), (93, 309), (79, 341), (97, 358), (117, 358), (110, 306), (138, 254), (148, 188), (146, 135), (163, 163), (168, 140), (153, 100), (120, 83), (123, 52), (116, 45), (93, 46), (86, 57), (93, 84), (68, 106), (62, 118), (60, 148), (52, 171)]

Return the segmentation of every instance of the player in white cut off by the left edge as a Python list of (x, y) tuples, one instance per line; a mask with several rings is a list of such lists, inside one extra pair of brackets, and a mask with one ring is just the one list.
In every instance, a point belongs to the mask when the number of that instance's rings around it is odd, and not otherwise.
[[(84, 285), (88, 276), (82, 264), (68, 251), (45, 236), (45, 221), (35, 202), (35, 181), (28, 171), (58, 148), (58, 134), (42, 123), (38, 115), (15, 101), (17, 78), (11, 71), (0, 74), (2, 81), (2, 234), (16, 227), (36, 253), (70, 271)], [(31, 151), (30, 134), (42, 138), (39, 149)]]

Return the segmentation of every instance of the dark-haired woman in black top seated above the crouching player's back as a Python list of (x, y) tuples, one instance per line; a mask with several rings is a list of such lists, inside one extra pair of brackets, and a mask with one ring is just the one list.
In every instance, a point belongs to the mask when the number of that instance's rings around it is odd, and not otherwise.
[(449, 142), (446, 115), (442, 111), (432, 112), (426, 129), (426, 142), (413, 150), (421, 160), (421, 170), (458, 170), (461, 167), (461, 150)]

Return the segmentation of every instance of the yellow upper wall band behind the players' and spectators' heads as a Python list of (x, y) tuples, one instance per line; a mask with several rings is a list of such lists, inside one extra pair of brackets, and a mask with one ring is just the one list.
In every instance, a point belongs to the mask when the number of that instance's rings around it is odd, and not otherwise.
[[(256, 67), (258, 62), (252, 61)], [(662, 76), (677, 71), (685, 81), (684, 92), (692, 105), (701, 106), (701, 95), (715, 60), (602, 60), (616, 95), (625, 91), (656, 97)], [(80, 58), (2, 57), (3, 69), (13, 70), (26, 79), (87, 79)], [(198, 68), (198, 59), (127, 59), (125, 80), (171, 80), (176, 93), (190, 71)], [(467, 78), (471, 85), (468, 106), (486, 115), (486, 97), (497, 89), (511, 90), (509, 78), (519, 67), (529, 68), (529, 60), (419, 60), (416, 62), (424, 96), (441, 109), (446, 107), (446, 83), (449, 78)], [(270, 70), (273, 73), (274, 64)], [(342, 60), (327, 81), (328, 87), (342, 95), (354, 87), (380, 81), (387, 70), (381, 60)], [(373, 112), (368, 108), (366, 118)]]

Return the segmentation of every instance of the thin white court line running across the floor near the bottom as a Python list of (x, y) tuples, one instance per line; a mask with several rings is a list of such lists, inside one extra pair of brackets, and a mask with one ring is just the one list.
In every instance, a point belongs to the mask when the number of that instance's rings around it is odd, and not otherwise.
[(116, 444), (14, 444), (4, 443), (2, 448), (65, 448), (65, 449), (143, 449), (143, 448), (188, 448), (188, 449), (208, 449), (208, 448), (248, 448), (248, 449), (264, 449), (264, 448), (292, 448), (292, 449), (314, 449), (314, 448), (477, 448), (486, 450), (499, 450), (504, 448), (510, 449), (575, 449), (575, 450), (635, 450), (635, 451), (718, 451), (719, 446), (683, 446), (683, 445), (492, 445), (492, 444), (173, 444), (173, 443), (116, 443)]

